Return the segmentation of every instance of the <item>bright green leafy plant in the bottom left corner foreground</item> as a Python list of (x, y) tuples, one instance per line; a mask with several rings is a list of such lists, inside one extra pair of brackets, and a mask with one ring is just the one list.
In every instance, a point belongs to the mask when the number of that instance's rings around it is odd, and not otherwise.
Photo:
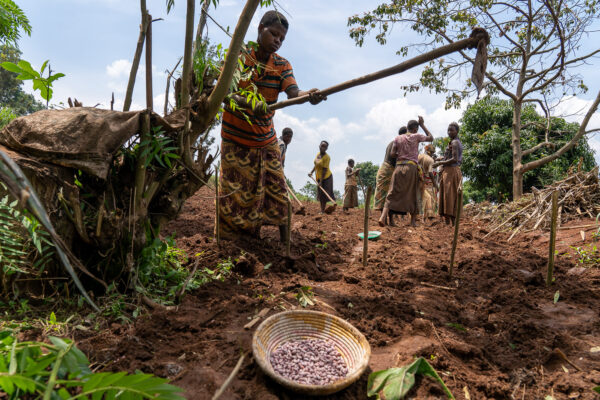
[(182, 389), (149, 374), (93, 373), (71, 340), (49, 340), (18, 342), (14, 331), (0, 331), (0, 389), (8, 400), (184, 399)]

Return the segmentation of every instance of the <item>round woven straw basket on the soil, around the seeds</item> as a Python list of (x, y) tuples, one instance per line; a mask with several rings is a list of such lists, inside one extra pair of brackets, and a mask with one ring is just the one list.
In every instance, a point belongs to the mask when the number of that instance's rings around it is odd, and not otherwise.
[[(307, 385), (277, 374), (271, 366), (271, 353), (284, 343), (300, 339), (331, 340), (348, 366), (348, 375), (328, 385)], [(280, 385), (298, 393), (326, 395), (348, 387), (362, 375), (371, 357), (371, 346), (362, 333), (343, 319), (299, 310), (264, 320), (254, 332), (252, 353), (260, 368)]]

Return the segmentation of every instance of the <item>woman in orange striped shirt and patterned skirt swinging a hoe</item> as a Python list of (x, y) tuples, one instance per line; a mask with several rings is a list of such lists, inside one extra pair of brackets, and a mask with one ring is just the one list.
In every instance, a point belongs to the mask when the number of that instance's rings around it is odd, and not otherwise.
[(281, 13), (266, 12), (258, 25), (257, 47), (242, 54), (251, 77), (240, 82), (239, 87), (256, 87), (265, 102), (257, 102), (253, 107), (244, 96), (232, 94), (236, 109), (225, 104), (219, 182), (222, 196), (218, 199), (219, 231), (225, 239), (240, 235), (259, 237), (263, 224), (279, 226), (281, 240), (286, 237), (285, 176), (273, 125), (275, 112), (268, 105), (277, 102), (280, 92), (288, 98), (308, 94), (312, 104), (325, 100), (317, 89), (301, 91), (292, 66), (276, 53), (288, 27)]

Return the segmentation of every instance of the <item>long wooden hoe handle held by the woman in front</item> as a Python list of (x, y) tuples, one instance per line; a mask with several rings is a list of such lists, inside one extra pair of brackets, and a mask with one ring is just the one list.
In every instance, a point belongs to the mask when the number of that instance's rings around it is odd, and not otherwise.
[[(429, 62), (431, 60), (435, 60), (436, 58), (440, 58), (445, 55), (464, 50), (466, 48), (477, 47), (477, 44), (480, 40), (488, 40), (488, 35), (485, 31), (480, 30), (478, 32), (480, 33), (475, 34), (474, 32), (472, 34), (472, 37), (469, 37), (467, 39), (459, 40), (458, 42), (450, 43), (432, 51), (429, 51), (427, 53), (423, 53), (417, 57), (411, 58), (410, 60), (406, 60), (393, 67), (382, 69), (381, 71), (373, 72), (371, 74), (364, 75), (359, 78), (351, 79), (349, 81), (328, 87), (326, 89), (321, 90), (319, 93), (321, 93), (323, 96), (329, 96), (330, 94), (341, 92), (342, 90), (350, 89), (355, 86), (364, 85), (376, 81), (378, 79), (387, 78), (388, 76), (399, 74), (418, 65), (425, 64), (426, 62)], [(279, 110), (281, 108), (288, 107), (291, 105), (306, 103), (308, 100), (309, 95), (294, 97), (293, 99), (280, 101), (269, 106), (269, 110)]]

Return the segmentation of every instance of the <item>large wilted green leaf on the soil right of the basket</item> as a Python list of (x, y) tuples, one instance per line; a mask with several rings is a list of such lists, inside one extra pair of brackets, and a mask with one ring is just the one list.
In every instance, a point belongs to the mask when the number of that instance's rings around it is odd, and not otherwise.
[(415, 375), (430, 376), (442, 386), (449, 399), (454, 396), (438, 373), (423, 357), (417, 358), (412, 364), (399, 368), (389, 368), (376, 371), (369, 375), (367, 382), (367, 396), (377, 396), (377, 399), (398, 400), (404, 396), (415, 384)]

